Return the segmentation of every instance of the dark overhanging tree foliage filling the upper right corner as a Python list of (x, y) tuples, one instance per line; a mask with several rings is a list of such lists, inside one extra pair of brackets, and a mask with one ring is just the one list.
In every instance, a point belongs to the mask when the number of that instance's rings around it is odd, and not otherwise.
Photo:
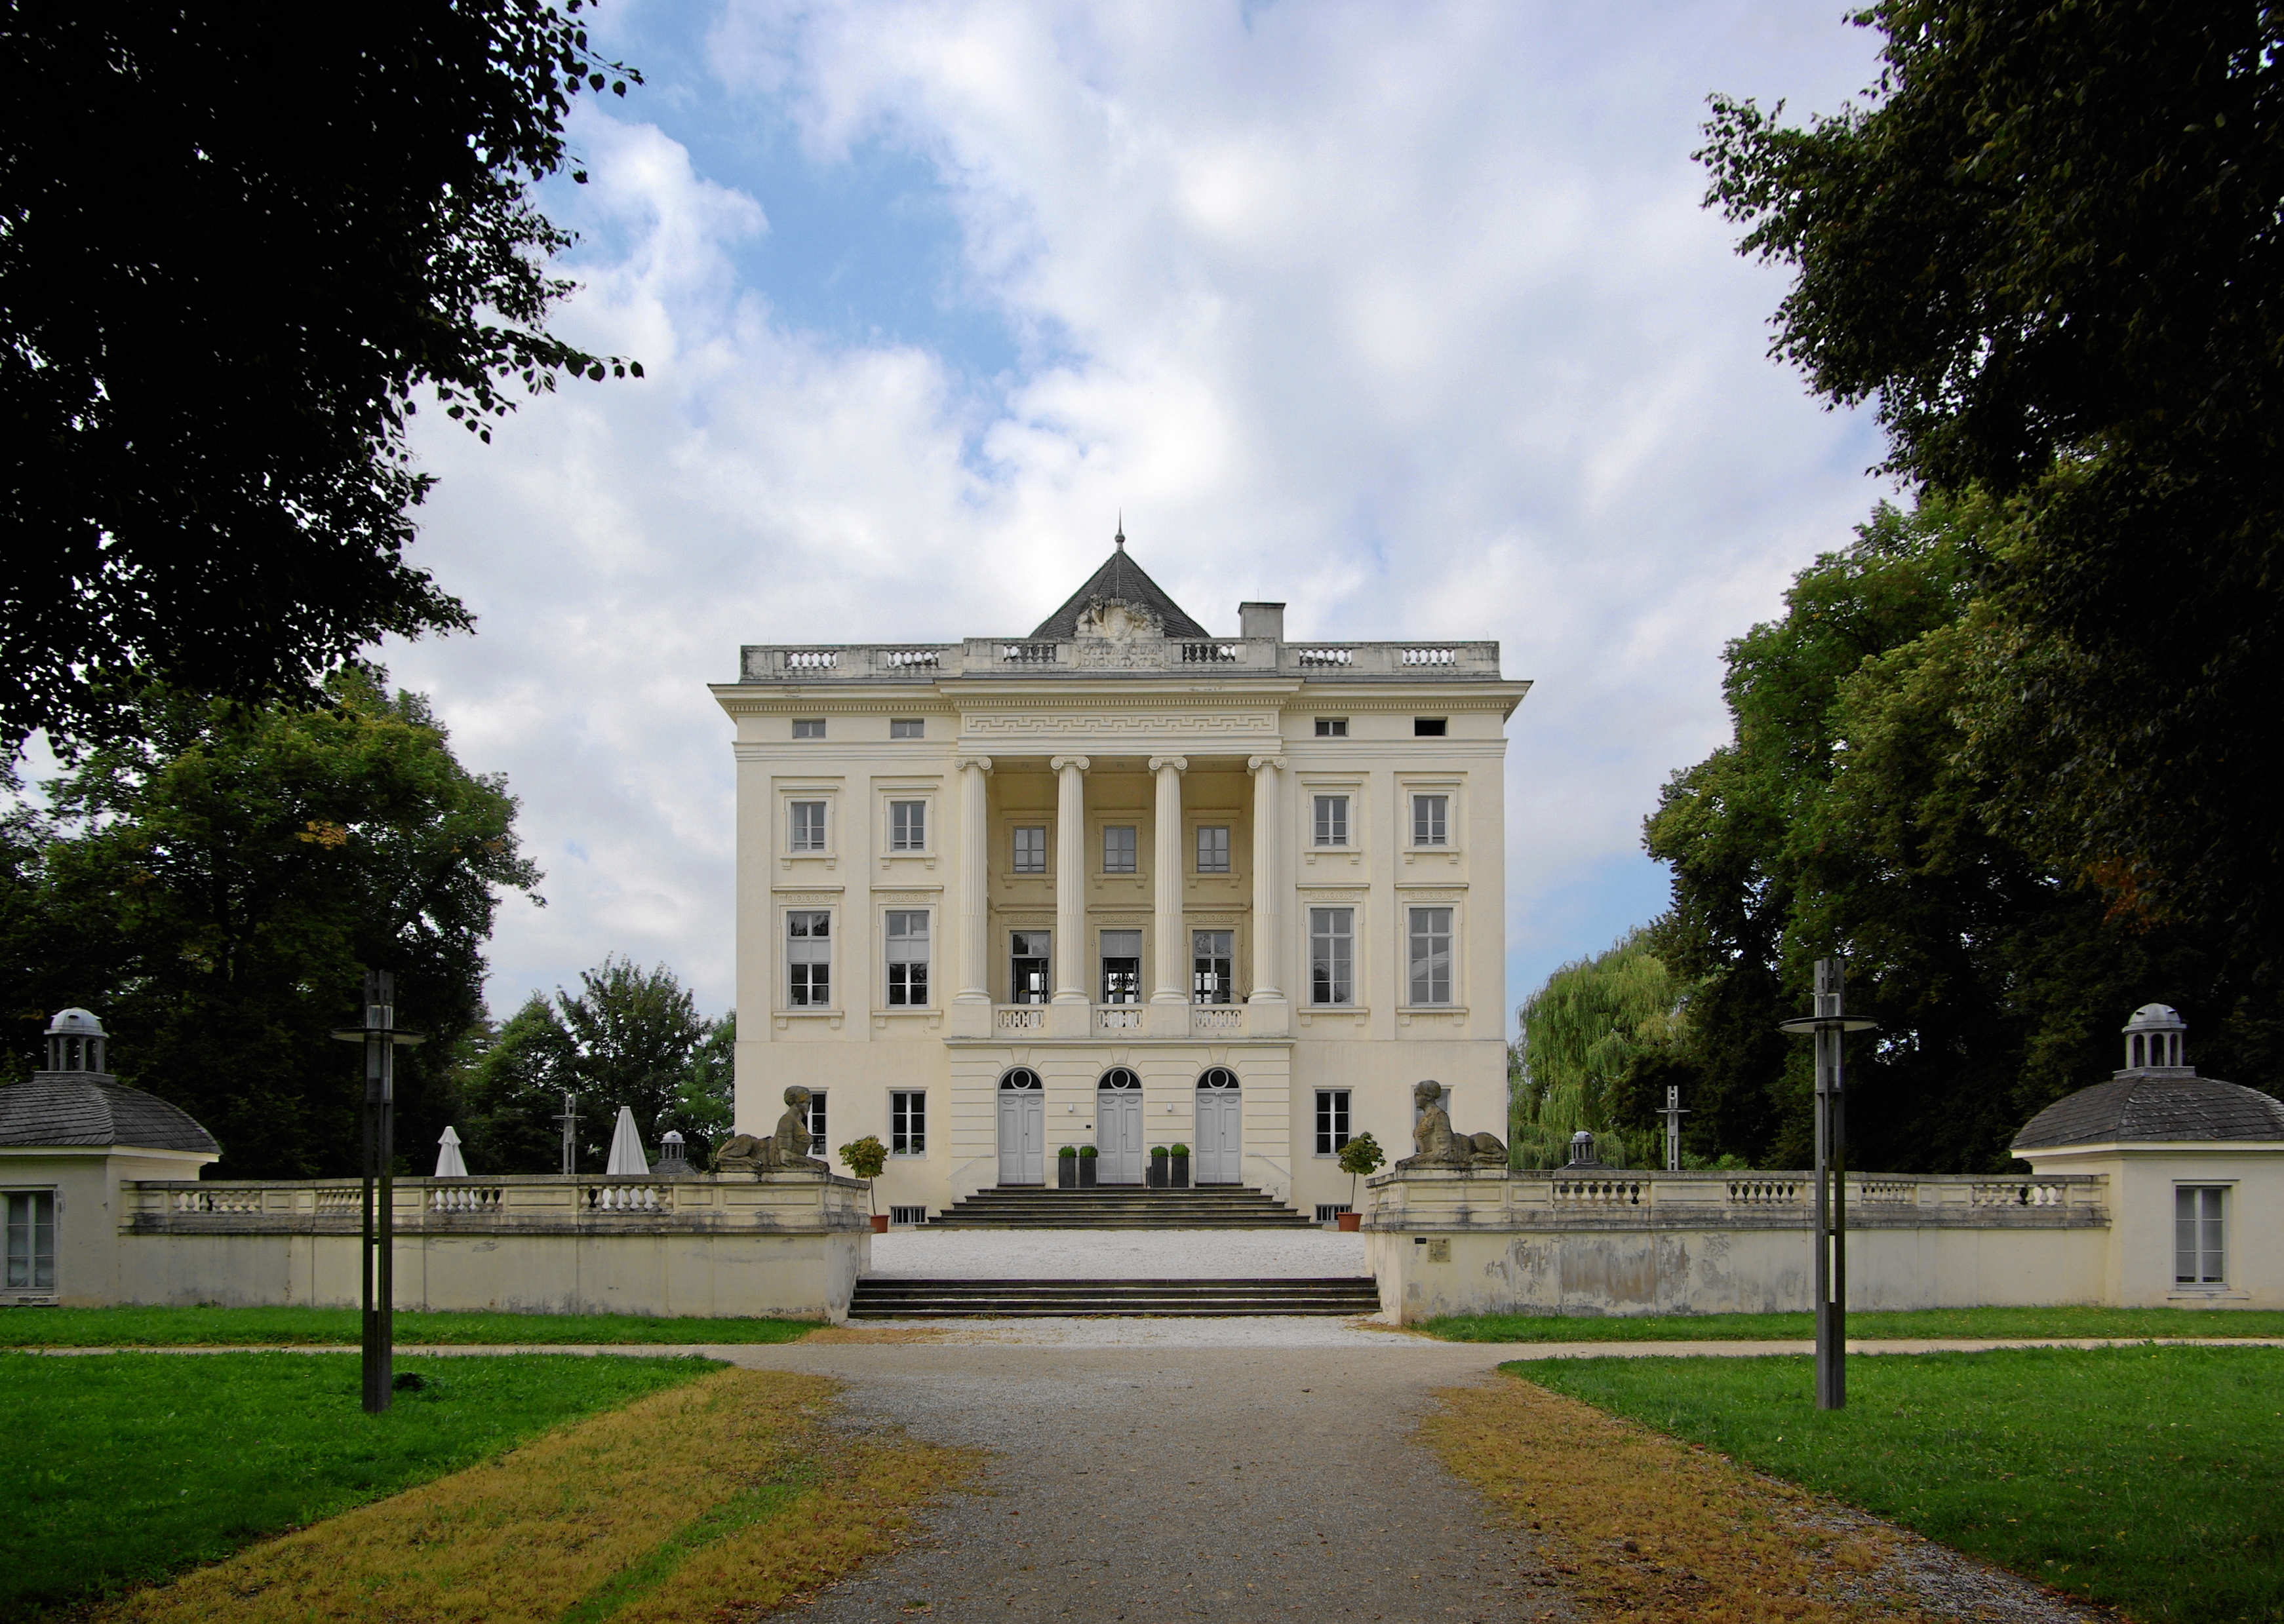
[(1798, 279), (1775, 352), (1887, 466), (2014, 503), (1957, 708), (1989, 820), (2279, 968), (2284, 11), (1884, 0), (1868, 105), (1715, 98), (1708, 203)]

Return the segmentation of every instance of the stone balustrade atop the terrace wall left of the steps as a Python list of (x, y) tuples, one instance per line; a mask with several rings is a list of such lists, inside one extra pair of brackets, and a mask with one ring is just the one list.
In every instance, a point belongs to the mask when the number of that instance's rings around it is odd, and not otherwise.
[[(866, 1192), (815, 1172), (608, 1179), (518, 1174), (502, 1179), (397, 1179), (393, 1217), (411, 1233), (827, 1233), (863, 1231)], [(128, 1183), (126, 1233), (356, 1233), (356, 1179)]]

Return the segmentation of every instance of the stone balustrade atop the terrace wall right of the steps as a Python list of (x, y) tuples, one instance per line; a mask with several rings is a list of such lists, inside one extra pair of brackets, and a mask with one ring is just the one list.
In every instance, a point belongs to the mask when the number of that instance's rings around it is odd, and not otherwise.
[[(1850, 1229), (2076, 1229), (2110, 1222), (2099, 1174), (1850, 1174)], [(1446, 1172), (1370, 1183), (1366, 1229), (1802, 1229), (1807, 1172)]]

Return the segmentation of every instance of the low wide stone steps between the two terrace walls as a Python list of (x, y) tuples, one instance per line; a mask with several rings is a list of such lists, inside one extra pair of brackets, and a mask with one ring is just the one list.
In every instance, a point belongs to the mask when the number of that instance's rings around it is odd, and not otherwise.
[(964, 1320), (978, 1316), (1256, 1316), (1380, 1313), (1370, 1275), (1332, 1279), (884, 1279), (856, 1281), (852, 1320)]

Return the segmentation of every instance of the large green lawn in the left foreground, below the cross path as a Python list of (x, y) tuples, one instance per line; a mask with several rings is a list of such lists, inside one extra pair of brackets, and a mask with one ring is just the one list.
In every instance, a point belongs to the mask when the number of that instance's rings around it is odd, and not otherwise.
[(397, 1370), (427, 1386), (368, 1416), (354, 1354), (0, 1352), (0, 1617), (217, 1562), (717, 1368), (582, 1354), (407, 1359)]

